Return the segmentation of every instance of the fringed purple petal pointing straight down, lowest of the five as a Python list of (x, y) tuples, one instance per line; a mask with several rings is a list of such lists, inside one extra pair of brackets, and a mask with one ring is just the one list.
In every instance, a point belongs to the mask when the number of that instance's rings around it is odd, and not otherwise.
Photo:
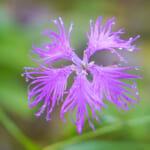
[[(95, 110), (101, 112), (101, 107), (106, 107), (102, 100), (99, 100), (98, 97), (93, 94), (91, 85), (92, 84), (87, 80), (84, 73), (76, 76), (75, 81), (69, 90), (69, 94), (61, 108), (60, 115), (63, 120), (63, 114), (71, 110), (72, 121), (77, 126), (78, 133), (82, 133), (85, 116), (88, 119), (90, 127), (95, 130), (90, 121), (87, 106), (90, 108), (93, 118), (95, 118), (97, 121), (100, 120), (96, 115)], [(76, 112), (75, 118), (73, 118), (73, 112)]]

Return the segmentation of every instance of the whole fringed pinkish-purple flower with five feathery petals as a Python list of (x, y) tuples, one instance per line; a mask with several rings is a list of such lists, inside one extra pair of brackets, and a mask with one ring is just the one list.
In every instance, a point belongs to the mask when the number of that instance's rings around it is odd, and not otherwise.
[[(29, 106), (43, 102), (36, 116), (40, 116), (47, 109), (47, 120), (55, 105), (62, 102), (60, 117), (65, 121), (64, 114), (71, 111), (72, 122), (76, 125), (78, 133), (82, 133), (84, 122), (87, 119), (90, 127), (94, 129), (88, 108), (93, 118), (100, 122), (96, 111), (102, 113), (102, 107), (107, 108), (105, 101), (110, 101), (121, 111), (129, 110), (129, 105), (139, 102), (139, 95), (134, 79), (141, 79), (140, 75), (132, 75), (125, 71), (135, 67), (120, 67), (118, 64), (110, 66), (98, 66), (94, 61), (89, 62), (90, 57), (97, 51), (108, 50), (116, 54), (121, 60), (126, 61), (118, 52), (139, 50), (132, 43), (139, 38), (123, 40), (119, 38), (123, 29), (112, 32), (114, 18), (108, 20), (103, 27), (102, 17), (98, 17), (95, 26), (90, 21), (90, 34), (87, 33), (88, 45), (81, 60), (70, 47), (69, 39), (73, 24), (71, 23), (68, 33), (66, 32), (62, 18), (53, 20), (58, 27), (59, 33), (46, 30), (44, 35), (51, 39), (51, 43), (34, 47), (31, 53), (35, 53), (40, 59), (34, 60), (39, 67), (25, 67), (26, 80), (31, 80), (28, 85)], [(72, 62), (61, 68), (54, 68), (52, 64), (60, 59)], [(69, 76), (75, 73), (71, 87), (67, 87)], [(90, 81), (88, 76), (92, 77)], [(124, 82), (124, 81), (129, 81)], [(87, 108), (88, 107), (88, 108)], [(76, 113), (75, 117), (73, 114)]]

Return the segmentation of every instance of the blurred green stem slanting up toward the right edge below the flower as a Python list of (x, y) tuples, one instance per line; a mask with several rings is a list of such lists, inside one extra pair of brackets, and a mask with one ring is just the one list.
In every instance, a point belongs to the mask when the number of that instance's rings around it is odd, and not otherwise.
[[(51, 150), (51, 149), (53, 149), (53, 150), (63, 150), (62, 148), (65, 148), (65, 150), (66, 150), (66, 146), (76, 145), (77, 142), (79, 143), (79, 142), (84, 141), (84, 140), (89, 140), (89, 139), (92, 139), (92, 138), (100, 137), (104, 134), (111, 133), (113, 131), (119, 131), (120, 129), (124, 129), (125, 127), (127, 128), (127, 127), (139, 126), (139, 125), (147, 124), (149, 122), (150, 122), (150, 116), (142, 116), (142, 117), (139, 117), (137, 119), (128, 120), (126, 122), (118, 121), (116, 123), (111, 123), (110, 125), (102, 127), (100, 129), (97, 129), (96, 133), (94, 133), (93, 131), (86, 132), (84, 134), (74, 136), (70, 139), (67, 139), (67, 140), (64, 140), (64, 141), (46, 146), (43, 150)], [(147, 148), (147, 145), (146, 146), (144, 145), (144, 147)], [(119, 148), (120, 148), (120, 146), (119, 146)], [(139, 148), (139, 146), (138, 146), (138, 148)], [(71, 148), (69, 148), (69, 149), (71, 149)], [(76, 149), (78, 149), (78, 148), (76, 148)], [(93, 148), (92, 148), (92, 150), (93, 150)], [(141, 149), (141, 150), (143, 150), (143, 149)]]

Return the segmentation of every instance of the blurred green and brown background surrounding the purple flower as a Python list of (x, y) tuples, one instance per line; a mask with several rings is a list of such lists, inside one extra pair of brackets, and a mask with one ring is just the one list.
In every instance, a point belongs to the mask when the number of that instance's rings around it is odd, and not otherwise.
[[(95, 121), (97, 133), (86, 121), (83, 134), (78, 135), (70, 114), (66, 123), (59, 117), (60, 107), (47, 122), (45, 114), (34, 114), (40, 106), (28, 107), (27, 83), (21, 77), (24, 66), (37, 66), (27, 54), (32, 42), (39, 46), (48, 41), (40, 33), (55, 30), (51, 19), (61, 16), (68, 28), (74, 22), (71, 45), (78, 55), (86, 46), (85, 32), (89, 20), (103, 16), (103, 22), (116, 17), (113, 30), (125, 27), (124, 39), (140, 34), (136, 41), (141, 51), (125, 53), (129, 65), (141, 66), (137, 80), (141, 102), (135, 109), (120, 114), (113, 104)], [(150, 149), (150, 0), (5, 0), (0, 1), (0, 150), (116, 150)], [(110, 64), (117, 58), (97, 53), (97, 63)], [(100, 60), (100, 61), (98, 61)], [(56, 144), (53, 144), (56, 143)], [(40, 147), (40, 148), (39, 148)]]

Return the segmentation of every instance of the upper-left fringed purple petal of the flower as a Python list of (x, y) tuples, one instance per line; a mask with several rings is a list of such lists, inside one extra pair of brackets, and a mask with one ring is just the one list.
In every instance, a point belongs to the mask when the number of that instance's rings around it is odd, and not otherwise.
[(41, 47), (35, 47), (33, 44), (33, 50), (30, 52), (38, 54), (40, 59), (37, 61), (43, 61), (44, 64), (48, 64), (49, 62), (53, 63), (59, 59), (72, 60), (74, 52), (70, 47), (69, 38), (73, 24), (71, 23), (67, 34), (61, 17), (59, 18), (59, 21), (53, 20), (59, 30), (59, 34), (49, 30), (45, 30), (42, 33), (43, 35), (48, 36), (52, 43), (42, 44)]

